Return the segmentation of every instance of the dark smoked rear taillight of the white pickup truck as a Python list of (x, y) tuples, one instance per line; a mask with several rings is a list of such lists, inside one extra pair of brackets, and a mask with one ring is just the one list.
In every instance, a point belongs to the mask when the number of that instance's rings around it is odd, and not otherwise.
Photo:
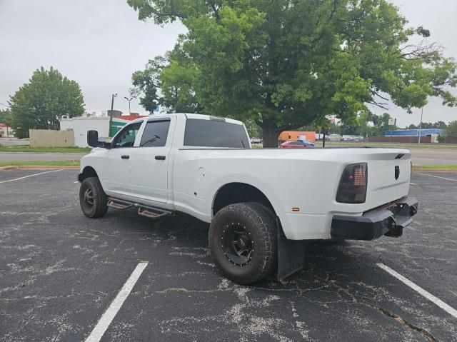
[(336, 201), (340, 203), (365, 203), (367, 178), (366, 163), (346, 166), (338, 186)]

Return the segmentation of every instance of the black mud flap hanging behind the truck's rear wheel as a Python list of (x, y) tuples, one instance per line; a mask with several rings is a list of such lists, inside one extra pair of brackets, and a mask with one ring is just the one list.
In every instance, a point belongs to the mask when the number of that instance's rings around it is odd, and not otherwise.
[(288, 240), (282, 229), (278, 229), (278, 271), (281, 281), (305, 266), (306, 241)]

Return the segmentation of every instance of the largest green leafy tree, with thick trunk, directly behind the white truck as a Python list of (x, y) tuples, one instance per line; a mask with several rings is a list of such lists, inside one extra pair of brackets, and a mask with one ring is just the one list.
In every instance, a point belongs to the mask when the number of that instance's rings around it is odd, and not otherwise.
[(164, 97), (180, 97), (182, 77), (202, 112), (254, 120), (264, 146), (328, 115), (351, 122), (368, 105), (411, 112), (430, 96), (457, 102), (448, 90), (456, 64), (436, 44), (411, 44), (430, 32), (407, 27), (387, 0), (127, 2), (139, 19), (188, 29), (161, 67)]

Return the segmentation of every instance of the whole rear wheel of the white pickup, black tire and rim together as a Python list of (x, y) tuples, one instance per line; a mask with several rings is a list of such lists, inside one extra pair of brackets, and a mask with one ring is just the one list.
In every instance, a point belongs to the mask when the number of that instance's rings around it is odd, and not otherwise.
[(209, 248), (224, 276), (243, 285), (255, 283), (276, 268), (276, 225), (257, 203), (235, 203), (214, 216)]

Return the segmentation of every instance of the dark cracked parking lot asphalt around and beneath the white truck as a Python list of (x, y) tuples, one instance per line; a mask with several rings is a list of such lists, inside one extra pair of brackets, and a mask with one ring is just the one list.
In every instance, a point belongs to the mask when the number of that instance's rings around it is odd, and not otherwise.
[(286, 281), (238, 286), (206, 223), (89, 219), (76, 171), (41, 172), (0, 172), (0, 341), (84, 340), (140, 261), (101, 341), (457, 341), (457, 318), (376, 266), (457, 308), (457, 173), (413, 173), (419, 213), (401, 238), (310, 243)]

